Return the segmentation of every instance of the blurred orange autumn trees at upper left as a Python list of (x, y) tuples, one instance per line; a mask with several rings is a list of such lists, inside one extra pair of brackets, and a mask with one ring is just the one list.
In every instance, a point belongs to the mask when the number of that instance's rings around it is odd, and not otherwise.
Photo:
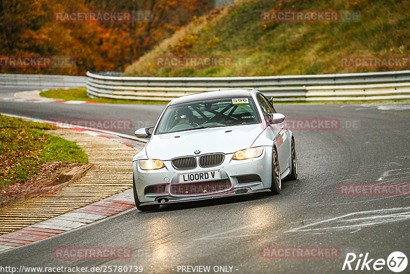
[[(122, 71), (212, 0), (8, 0), (0, 4), (0, 56), (70, 56), (66, 68), (1, 68), (0, 73), (84, 75)], [(150, 11), (151, 22), (55, 22), (58, 11)]]

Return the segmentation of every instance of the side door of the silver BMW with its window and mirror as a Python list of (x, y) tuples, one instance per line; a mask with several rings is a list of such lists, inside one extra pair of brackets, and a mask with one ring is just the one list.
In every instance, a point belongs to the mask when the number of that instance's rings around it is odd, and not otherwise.
[[(269, 103), (263, 94), (258, 93), (256, 99), (260, 105), (263, 114), (276, 113), (273, 106)], [(289, 166), (289, 155), (291, 151), (289, 142), (289, 133), (286, 130), (286, 124), (283, 121), (280, 124), (271, 124), (267, 129), (267, 134), (272, 140), (276, 140), (276, 148), (279, 157), (279, 167), (280, 171), (284, 171)]]

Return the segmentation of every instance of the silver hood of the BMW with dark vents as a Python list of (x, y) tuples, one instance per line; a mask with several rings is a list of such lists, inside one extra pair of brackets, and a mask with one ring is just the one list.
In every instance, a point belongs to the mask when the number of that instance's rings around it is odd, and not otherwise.
[(197, 155), (214, 152), (234, 153), (251, 147), (261, 132), (260, 124), (252, 124), (153, 135), (147, 143), (146, 152), (148, 158), (162, 161), (178, 156), (195, 155), (196, 150), (200, 151)]

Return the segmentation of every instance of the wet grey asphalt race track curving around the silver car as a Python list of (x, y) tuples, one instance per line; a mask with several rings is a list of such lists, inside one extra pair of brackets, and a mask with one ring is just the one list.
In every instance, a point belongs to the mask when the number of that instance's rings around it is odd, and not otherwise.
[[(0, 89), (1, 95), (28, 90)], [(163, 107), (0, 101), (4, 113), (51, 121), (130, 119), (133, 129), (153, 125)], [(292, 119), (339, 121), (336, 129), (294, 130), (299, 178), (284, 182), (280, 195), (165, 205), (156, 212), (133, 208), (1, 252), (0, 265), (134, 265), (143, 266), (143, 273), (182, 273), (181, 266), (211, 266), (211, 270), (228, 266), (225, 272), (233, 273), (348, 273), (357, 271), (342, 271), (347, 253), (357, 257), (368, 253), (368, 259), (374, 259), (368, 264), (371, 270), (362, 272), (393, 273), (387, 265), (376, 271), (373, 263), (387, 260), (393, 251), (403, 252), (410, 260), (410, 104), (287, 104), (276, 109)], [(132, 134), (133, 130), (118, 132)], [(339, 193), (340, 184), (376, 183), (406, 183), (407, 195), (397, 190), (389, 195)], [(133, 256), (55, 259), (56, 247), (128, 247)], [(264, 258), (273, 254), (266, 250), (280, 247), (333, 247), (340, 253), (337, 258), (315, 258), (313, 253), (312, 258)], [(353, 269), (357, 262), (351, 263)], [(409, 272), (410, 265), (402, 273)]]

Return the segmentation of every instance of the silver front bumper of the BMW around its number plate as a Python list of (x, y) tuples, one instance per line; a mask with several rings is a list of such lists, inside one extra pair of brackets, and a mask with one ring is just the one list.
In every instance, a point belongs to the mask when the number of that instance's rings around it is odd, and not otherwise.
[[(202, 168), (198, 165), (190, 170), (177, 170), (172, 166), (171, 161), (163, 161), (165, 167), (161, 169), (142, 170), (138, 166), (138, 161), (134, 161), (134, 178), (138, 200), (141, 204), (146, 205), (187, 202), (267, 191), (271, 187), (272, 147), (264, 147), (262, 155), (254, 159), (238, 161), (233, 160), (232, 156), (233, 153), (226, 154), (222, 164), (219, 166)], [(199, 156), (196, 156), (196, 158), (198, 160)], [(178, 174), (214, 170), (219, 170), (219, 181), (229, 182), (229, 187), (224, 187), (221, 190), (215, 190), (214, 188), (214, 191), (204, 191), (195, 194), (175, 194), (176, 188), (194, 184), (179, 184)], [(252, 176), (250, 177), (249, 175)], [(247, 179), (245, 180), (244, 178)], [(213, 182), (215, 181), (197, 182), (197, 184), (202, 185), (204, 189), (210, 189), (206, 187), (212, 185)]]

